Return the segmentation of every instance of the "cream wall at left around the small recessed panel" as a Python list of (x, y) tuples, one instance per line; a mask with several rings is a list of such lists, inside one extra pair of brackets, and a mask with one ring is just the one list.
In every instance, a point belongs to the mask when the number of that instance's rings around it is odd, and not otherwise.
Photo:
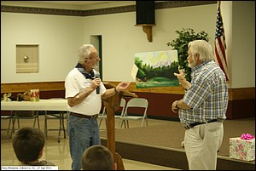
[[(1, 83), (63, 81), (83, 36), (79, 17), (1, 13)], [(16, 44), (39, 44), (38, 73), (16, 73)]]

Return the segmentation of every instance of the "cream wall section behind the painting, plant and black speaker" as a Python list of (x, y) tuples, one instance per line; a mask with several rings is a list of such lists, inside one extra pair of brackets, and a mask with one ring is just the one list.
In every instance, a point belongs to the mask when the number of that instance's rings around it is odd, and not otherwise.
[[(195, 31), (207, 31), (213, 44), (216, 5), (159, 9), (155, 11), (153, 42), (148, 43), (142, 26), (135, 26), (136, 13), (108, 14), (84, 17), (84, 42), (90, 35), (102, 35), (102, 66), (105, 81), (133, 81), (131, 67), (134, 54), (169, 50), (166, 43), (177, 37), (176, 30), (191, 27)], [(183, 13), (183, 15), (180, 15)], [(200, 20), (192, 20), (200, 19)], [(204, 25), (202, 25), (204, 23)], [(209, 27), (211, 26), (211, 27)]]

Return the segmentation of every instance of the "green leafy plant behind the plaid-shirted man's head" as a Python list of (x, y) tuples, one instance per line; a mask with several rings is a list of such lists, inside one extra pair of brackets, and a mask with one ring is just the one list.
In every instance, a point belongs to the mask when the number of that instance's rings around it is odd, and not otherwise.
[(188, 44), (194, 40), (206, 40), (209, 41), (208, 33), (205, 31), (200, 31), (195, 33), (191, 28), (182, 29), (181, 31), (175, 31), (178, 37), (171, 42), (167, 43), (167, 46), (172, 46), (172, 49), (177, 49), (177, 60), (180, 70), (184, 71), (185, 78), (189, 82), (191, 81), (191, 68), (189, 68), (188, 57)]

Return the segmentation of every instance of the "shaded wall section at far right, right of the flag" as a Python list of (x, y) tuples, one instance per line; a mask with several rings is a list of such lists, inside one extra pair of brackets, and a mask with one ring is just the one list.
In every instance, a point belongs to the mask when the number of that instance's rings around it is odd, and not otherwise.
[(233, 2), (232, 87), (255, 87), (255, 2)]

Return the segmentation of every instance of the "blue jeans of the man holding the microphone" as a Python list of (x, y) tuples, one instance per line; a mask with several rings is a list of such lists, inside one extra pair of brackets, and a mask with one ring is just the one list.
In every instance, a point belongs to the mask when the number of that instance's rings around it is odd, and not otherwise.
[(68, 117), (69, 150), (72, 157), (72, 169), (82, 168), (84, 150), (91, 145), (100, 145), (100, 134), (97, 119)]

